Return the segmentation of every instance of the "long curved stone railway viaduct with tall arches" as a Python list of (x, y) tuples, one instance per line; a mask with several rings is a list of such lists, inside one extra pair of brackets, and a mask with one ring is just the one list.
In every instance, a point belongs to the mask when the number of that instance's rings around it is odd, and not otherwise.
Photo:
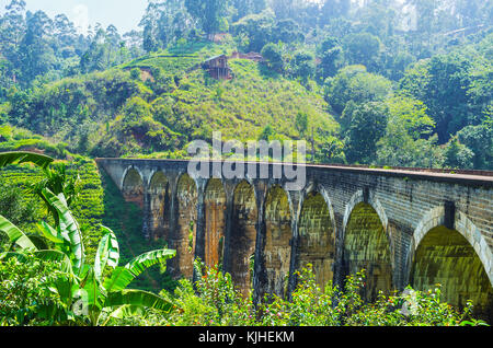
[(211, 178), (192, 177), (188, 161), (96, 162), (141, 207), (144, 237), (176, 250), (168, 266), (176, 277), (192, 278), (200, 257), (260, 299), (288, 297), (307, 264), (322, 286), (366, 269), (368, 300), (440, 283), (446, 301), (473, 300), (493, 318), (493, 172), (307, 164), (306, 184), (289, 190), (284, 176), (273, 178), (279, 163), (263, 163), (266, 178), (244, 165), (243, 179), (227, 179), (211, 169)]

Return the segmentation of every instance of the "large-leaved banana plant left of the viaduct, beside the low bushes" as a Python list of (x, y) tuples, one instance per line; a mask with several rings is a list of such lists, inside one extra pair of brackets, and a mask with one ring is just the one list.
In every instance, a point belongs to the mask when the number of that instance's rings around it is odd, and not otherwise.
[[(1, 255), (2, 259), (16, 258), (20, 262), (27, 262), (31, 255), (25, 253), (34, 252), (35, 258), (41, 257), (45, 260), (57, 262), (64, 259), (65, 270), (69, 272), (68, 277), (57, 279), (54, 287), (49, 288), (64, 305), (60, 306), (56, 302), (48, 302), (43, 305), (43, 310), (35, 312), (35, 314), (50, 313), (55, 317), (61, 318), (58, 324), (87, 321), (91, 325), (99, 325), (101, 324), (100, 317), (103, 311), (110, 313), (108, 315), (111, 316), (113, 311), (124, 305), (130, 308), (149, 306), (160, 311), (170, 309), (170, 304), (163, 298), (141, 290), (127, 290), (126, 287), (145, 268), (173, 257), (175, 255), (174, 251), (149, 252), (134, 258), (124, 267), (117, 267), (119, 259), (117, 241), (113, 232), (105, 228), (105, 234), (98, 248), (94, 267), (92, 267), (84, 263), (81, 231), (78, 222), (68, 210), (64, 194), (55, 196), (46, 188), (43, 189), (42, 194), (58, 213), (59, 223), (56, 229), (46, 223), (43, 224), (45, 234), (51, 234), (48, 240), (54, 242), (54, 250), (38, 251), (27, 235), (12, 225), (7, 219), (0, 217), (0, 231), (7, 233), (10, 241), (20, 247), (16, 253), (3, 253)], [(111, 243), (108, 243), (108, 240), (111, 240)], [(104, 271), (105, 266), (114, 268), (114, 271), (107, 277)], [(79, 295), (82, 295), (83, 310), (82, 313), (73, 313), (76, 312), (73, 310), (74, 299)]]

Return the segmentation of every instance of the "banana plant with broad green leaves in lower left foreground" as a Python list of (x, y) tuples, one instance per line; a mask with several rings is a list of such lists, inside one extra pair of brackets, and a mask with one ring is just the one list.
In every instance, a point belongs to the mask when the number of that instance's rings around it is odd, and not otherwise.
[[(4, 159), (0, 154), (0, 160)], [(19, 161), (11, 156), (3, 165)], [(33, 156), (34, 163), (36, 158)], [(41, 162), (38, 162), (41, 163)], [(100, 241), (93, 265), (87, 264), (82, 233), (77, 220), (68, 208), (64, 193), (55, 195), (50, 189), (39, 187), (39, 194), (50, 211), (56, 212), (56, 227), (41, 222), (38, 229), (44, 236), (27, 236), (18, 227), (0, 216), (0, 231), (7, 234), (11, 247), (0, 254), (2, 263), (15, 258), (20, 263), (36, 258), (59, 263), (61, 274), (44, 285), (57, 301), (49, 297), (42, 303), (35, 302), (28, 312), (41, 320), (51, 318), (50, 324), (100, 325), (102, 317), (133, 313), (139, 308), (167, 311), (171, 303), (154, 293), (126, 289), (145, 269), (158, 263), (164, 263), (175, 255), (172, 250), (157, 250), (131, 259), (124, 267), (118, 266), (118, 242), (110, 229), (101, 227), (103, 237)], [(48, 244), (54, 247), (49, 248)], [(111, 269), (113, 268), (113, 269)], [(16, 316), (19, 316), (19, 311)], [(24, 320), (18, 320), (24, 323)]]

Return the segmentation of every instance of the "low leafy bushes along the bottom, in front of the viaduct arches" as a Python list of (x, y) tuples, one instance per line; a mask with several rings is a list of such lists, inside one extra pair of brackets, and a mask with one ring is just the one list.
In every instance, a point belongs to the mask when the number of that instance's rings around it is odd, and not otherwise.
[(194, 285), (182, 279), (174, 293), (161, 292), (173, 302), (169, 313), (145, 311), (138, 316), (114, 318), (110, 325), (164, 326), (465, 326), (485, 325), (471, 316), (472, 303), (457, 310), (442, 301), (440, 289), (385, 295), (365, 303), (365, 271), (346, 278), (344, 289), (329, 282), (322, 290), (310, 265), (298, 274), (291, 300), (266, 295), (254, 305), (217, 267), (197, 266)]

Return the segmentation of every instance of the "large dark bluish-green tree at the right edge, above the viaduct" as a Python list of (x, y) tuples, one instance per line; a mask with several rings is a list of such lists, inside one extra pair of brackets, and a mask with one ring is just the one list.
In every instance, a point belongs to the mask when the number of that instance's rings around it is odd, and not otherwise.
[(485, 106), (491, 103), (492, 88), (484, 80), (491, 62), (469, 55), (452, 51), (420, 61), (400, 82), (404, 93), (427, 106), (436, 123), (439, 143), (446, 143), (466, 126), (480, 124)]

